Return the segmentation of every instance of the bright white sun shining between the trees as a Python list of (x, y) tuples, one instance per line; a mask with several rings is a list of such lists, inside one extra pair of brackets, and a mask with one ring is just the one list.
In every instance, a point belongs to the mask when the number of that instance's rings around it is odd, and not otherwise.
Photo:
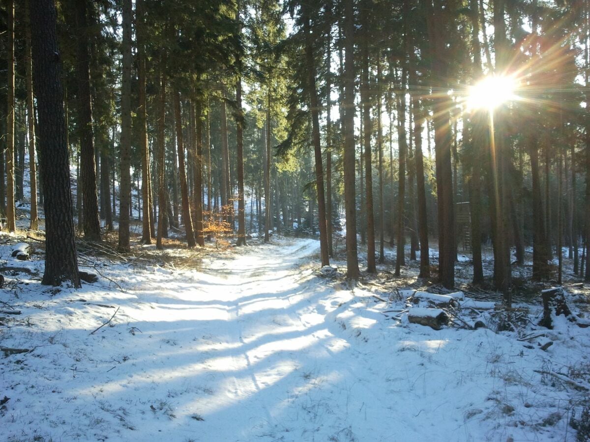
[(471, 86), (467, 95), (467, 107), (470, 109), (487, 108), (494, 110), (502, 103), (516, 99), (514, 91), (517, 83), (513, 77), (491, 75)]

